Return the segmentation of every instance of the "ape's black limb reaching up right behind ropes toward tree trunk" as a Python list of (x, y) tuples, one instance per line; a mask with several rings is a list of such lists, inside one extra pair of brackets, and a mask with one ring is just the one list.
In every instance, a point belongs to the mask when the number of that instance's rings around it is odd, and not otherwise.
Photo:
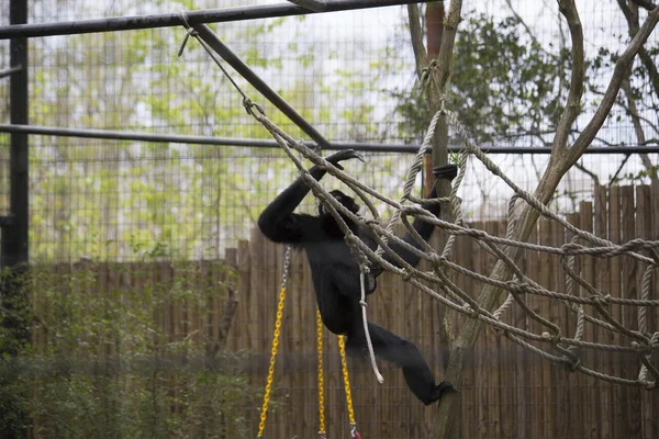
[[(445, 180), (451, 181), (457, 176), (457, 172), (458, 172), (458, 169), (455, 165), (447, 165), (447, 166), (442, 166), (442, 167), (437, 167), (437, 168), (433, 169), (433, 175), (435, 176), (435, 178), (437, 180), (445, 179)], [(433, 185), (433, 190), (431, 191), (431, 193), (427, 196), (427, 199), (435, 199), (435, 198), (437, 198), (437, 184)], [(439, 213), (440, 213), (439, 204), (433, 203), (433, 204), (429, 204), (426, 209), (431, 213), (433, 213), (435, 216), (437, 216), (437, 217), (439, 216)], [(433, 230), (435, 229), (435, 226), (433, 224), (426, 223), (425, 221), (423, 221), (421, 218), (414, 218), (412, 226), (414, 227), (416, 233), (418, 235), (421, 235), (421, 237), (426, 241), (431, 238), (431, 236), (433, 235)], [(405, 234), (405, 236), (403, 237), (403, 240), (405, 243), (410, 244), (411, 246), (413, 246), (414, 248), (421, 249), (421, 245), (416, 241), (416, 239), (412, 236), (411, 233), (407, 232)], [(418, 256), (416, 256), (412, 251), (403, 248), (401, 245), (390, 241), (389, 247), (412, 267), (416, 267), (416, 264), (418, 263), (418, 260), (420, 260)], [(401, 268), (401, 264), (390, 255), (384, 254), (383, 258), (384, 258), (384, 260), (392, 263), (393, 266)], [(377, 277), (381, 272), (382, 272), (382, 269), (378, 268), (373, 271), (373, 274)]]

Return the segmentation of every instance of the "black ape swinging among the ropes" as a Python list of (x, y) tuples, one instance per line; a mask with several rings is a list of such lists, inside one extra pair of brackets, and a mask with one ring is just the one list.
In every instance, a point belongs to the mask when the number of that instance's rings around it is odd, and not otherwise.
[[(338, 166), (339, 161), (350, 158), (361, 159), (361, 156), (354, 150), (345, 150), (327, 157), (327, 161)], [(325, 171), (317, 167), (313, 167), (309, 171), (316, 180), (325, 175)], [(434, 169), (433, 173), (435, 178), (450, 181), (456, 177), (457, 168), (453, 165), (438, 167)], [(319, 216), (293, 213), (309, 191), (310, 189), (301, 178), (295, 180), (266, 207), (258, 218), (258, 226), (264, 235), (275, 243), (287, 243), (306, 251), (323, 323), (332, 333), (347, 336), (346, 347), (349, 353), (364, 354), (366, 336), (359, 305), (361, 295), (359, 264), (344, 241), (344, 234), (336, 221), (325, 212), (322, 204), (319, 207)], [(331, 193), (350, 212), (359, 211), (359, 206), (353, 198), (340, 191)], [(436, 198), (435, 189), (428, 198)], [(427, 209), (435, 215), (439, 214), (438, 204), (431, 204)], [(344, 219), (364, 243), (373, 249), (377, 247), (375, 239), (364, 226), (355, 224), (347, 217)], [(433, 234), (434, 226), (418, 218), (414, 221), (413, 226), (426, 240)], [(405, 235), (403, 239), (414, 247), (421, 248), (410, 234)], [(420, 258), (409, 250), (393, 243), (390, 244), (390, 247), (407, 263), (412, 266), (418, 263)], [(387, 258), (387, 260), (399, 266), (391, 258)], [(378, 275), (381, 270), (376, 269), (373, 272), (375, 275)], [(375, 288), (375, 282), (372, 282), (367, 293), (372, 293)], [(432, 404), (439, 399), (445, 391), (455, 390), (448, 382), (435, 384), (433, 372), (412, 342), (370, 322), (368, 329), (376, 354), (403, 369), (403, 375), (410, 390), (424, 404)]]

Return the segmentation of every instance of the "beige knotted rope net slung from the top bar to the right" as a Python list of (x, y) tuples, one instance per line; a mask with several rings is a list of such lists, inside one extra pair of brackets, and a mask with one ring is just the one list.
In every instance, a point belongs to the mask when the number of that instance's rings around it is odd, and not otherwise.
[[(221, 66), (219, 59), (214, 56), (196, 32), (188, 27), (188, 36), (194, 36), (204, 47), (208, 54), (213, 58), (217, 66)], [(187, 41), (187, 37), (186, 37)], [(183, 42), (185, 45), (185, 42)], [(182, 47), (181, 47), (182, 49)], [(222, 68), (224, 74), (228, 74)], [(368, 267), (373, 264), (383, 270), (391, 271), (403, 277), (404, 280), (412, 283), (421, 292), (428, 294), (443, 305), (465, 314), (469, 318), (480, 319), (491, 325), (500, 334), (504, 335), (511, 341), (523, 348), (541, 356), (543, 358), (563, 364), (571, 371), (578, 371), (590, 376), (608, 382), (641, 386), (648, 390), (657, 389), (659, 383), (659, 370), (652, 363), (652, 352), (659, 350), (659, 328), (648, 327), (648, 309), (655, 312), (659, 306), (659, 300), (656, 291), (652, 291), (652, 277), (659, 266), (659, 241), (632, 239), (627, 243), (616, 245), (610, 240), (597, 237), (590, 232), (580, 229), (567, 222), (565, 218), (549, 210), (539, 200), (530, 193), (517, 187), (489, 157), (473, 144), (466, 130), (460, 124), (456, 115), (445, 109), (438, 111), (431, 121), (424, 140), (420, 147), (413, 166), (407, 173), (403, 195), (401, 200), (393, 200), (381, 194), (372, 188), (359, 182), (344, 170), (333, 166), (321, 157), (315, 150), (309, 148), (301, 142), (295, 140), (272, 121), (270, 121), (264, 110), (253, 103), (239, 88), (235, 85), (238, 92), (243, 95), (243, 105), (248, 114), (258, 121), (271, 136), (277, 140), (286, 151), (291, 161), (300, 171), (301, 178), (309, 185), (314, 196), (325, 204), (327, 211), (334, 216), (338, 226), (345, 234), (345, 239), (357, 257), (362, 273), (368, 273)], [(451, 191), (446, 199), (436, 199), (433, 202), (448, 203), (453, 221), (448, 222), (437, 218), (431, 212), (423, 207), (428, 205), (428, 200), (420, 200), (412, 195), (412, 188), (418, 172), (423, 166), (423, 157), (432, 147), (432, 139), (439, 119), (444, 116), (450, 127), (453, 127), (462, 144), (462, 150), (459, 160), (459, 172), (453, 182)], [(469, 227), (460, 210), (460, 199), (457, 196), (458, 189), (463, 180), (467, 161), (469, 158), (478, 159), (496, 178), (505, 182), (513, 191), (514, 196), (509, 204), (507, 229), (505, 237), (493, 236), (484, 230)], [(334, 176), (364, 202), (370, 211), (371, 217), (355, 215), (338, 203), (321, 184), (309, 173), (302, 160), (309, 159), (312, 164)], [(382, 227), (382, 219), (369, 196), (388, 204), (393, 209), (394, 214), (386, 227)], [(513, 239), (517, 217), (515, 212), (518, 203), (526, 203), (537, 210), (545, 218), (556, 222), (566, 230), (571, 233), (573, 238), (570, 243), (560, 247), (544, 246), (533, 243), (526, 243)], [(378, 243), (378, 249), (373, 251), (358, 236), (354, 235), (343, 219), (348, 217), (351, 221), (361, 224), (371, 232), (372, 237)], [(424, 221), (434, 224), (448, 235), (446, 246), (442, 254), (437, 254), (434, 248), (424, 241), (412, 227), (410, 217), (422, 217)], [(404, 227), (415, 237), (421, 245), (421, 250), (409, 245), (393, 233), (393, 225), (400, 219)], [(511, 280), (494, 279), (476, 271), (463, 268), (450, 260), (455, 239), (457, 236), (468, 236), (474, 239), (478, 245), (491, 254), (499, 262), (502, 262), (512, 272)], [(396, 243), (409, 251), (417, 255), (422, 260), (429, 262), (429, 270), (422, 270), (407, 264), (389, 247), (389, 243)], [(561, 269), (566, 273), (566, 292), (549, 290), (536, 281), (528, 278), (515, 263), (511, 249), (526, 249), (551, 255), (558, 255), (561, 261)], [(388, 262), (382, 256), (387, 254), (392, 260), (400, 264), (400, 268)], [(593, 284), (580, 277), (576, 269), (576, 257), (591, 256), (595, 258), (630, 257), (641, 262), (644, 269), (643, 282), (639, 299), (614, 297), (606, 292), (597, 290)], [(647, 256), (646, 256), (647, 255)], [(494, 309), (488, 309), (481, 306), (469, 292), (460, 289), (451, 279), (455, 275), (465, 275), (482, 282), (483, 284), (501, 289), (507, 293), (503, 304)], [(440, 293), (436, 292), (427, 284), (433, 284)], [(472, 292), (473, 293), (473, 292)], [(577, 316), (577, 325), (573, 334), (566, 334), (559, 325), (550, 318), (545, 317), (534, 311), (527, 303), (526, 296), (536, 295), (549, 297), (563, 303)], [(637, 327), (630, 329), (624, 326), (608, 311), (608, 305), (629, 306), (637, 308)], [(513, 306), (522, 309), (529, 319), (537, 322), (540, 329), (536, 331), (518, 328), (504, 322), (506, 312)], [(594, 312), (592, 312), (594, 309)], [(584, 338), (587, 325), (619, 334), (619, 340), (630, 340), (628, 345), (602, 344), (589, 341)], [(636, 379), (604, 373), (592, 367), (582, 364), (581, 354), (584, 350), (616, 351), (636, 354), (638, 358), (638, 374)]]

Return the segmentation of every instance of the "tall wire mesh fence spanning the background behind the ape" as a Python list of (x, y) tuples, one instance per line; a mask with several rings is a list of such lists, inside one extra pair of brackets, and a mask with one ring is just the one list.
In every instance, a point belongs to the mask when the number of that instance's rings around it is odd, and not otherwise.
[[(269, 3), (34, 0), (29, 21)], [(629, 33), (615, 2), (589, 0), (579, 8), (590, 67), (577, 131), (594, 112), (612, 60)], [(8, 11), (9, 2), (0, 4), (0, 25), (9, 24)], [(455, 98), (447, 104), (479, 145), (550, 146), (569, 79), (567, 30), (556, 5), (491, 0), (466, 2), (465, 11)], [(211, 27), (326, 138), (410, 145), (422, 138), (429, 115), (416, 81), (405, 7)], [(196, 42), (188, 42), (178, 56), (185, 35), (183, 27), (170, 27), (31, 38), (30, 123), (269, 138), (245, 114), (241, 95)], [(650, 55), (657, 43), (655, 35), (648, 43)], [(9, 67), (9, 42), (1, 41), (2, 68)], [(230, 72), (280, 127), (306, 138)], [(1, 79), (0, 102), (9, 102), (9, 93), (10, 81)], [(593, 146), (656, 146), (657, 99), (650, 81), (641, 74), (633, 77), (628, 93), (621, 94)], [(9, 123), (10, 110), (9, 104), (0, 105), (1, 123)], [(639, 127), (645, 136), (639, 137)], [(451, 142), (458, 146), (455, 138)], [(549, 160), (548, 155), (526, 150), (491, 158), (528, 191)], [(2, 133), (0, 216), (10, 213), (9, 159), (10, 135)], [(411, 154), (368, 153), (366, 164), (346, 164), (346, 169), (398, 198), (412, 160)], [(580, 167), (563, 178), (551, 207), (573, 214), (583, 202), (594, 201), (596, 185), (650, 183), (657, 164), (657, 153), (585, 155)], [(261, 260), (253, 260), (248, 277), (242, 279), (247, 261), (241, 260), (245, 257), (241, 246), (254, 240), (258, 214), (295, 177), (292, 164), (275, 148), (31, 135), (30, 257), (35, 267), (31, 294), (36, 305), (31, 327), (38, 349), (21, 360), (30, 373), (16, 382), (36, 389), (21, 399), (33, 419), (34, 437), (92, 437), (102, 431), (129, 437), (254, 435), (259, 378), (265, 379), (270, 353), (266, 323), (273, 318), (281, 260), (275, 246), (261, 244)], [(326, 178), (323, 184), (338, 183)], [(469, 162), (459, 196), (470, 224), (496, 228), (491, 224), (504, 218), (512, 194), (479, 162)], [(314, 212), (315, 202), (306, 200), (303, 209)], [(503, 234), (503, 228), (499, 232)], [(275, 437), (312, 434), (316, 425), (315, 407), (310, 405), (316, 391), (315, 353), (302, 342), (311, 331), (304, 325), (314, 311), (314, 296), (304, 262), (295, 261), (294, 297), (300, 302), (289, 303), (293, 311), (286, 324), (292, 329), (284, 344), (290, 350), (281, 359), (281, 373), (288, 375), (278, 376)], [(528, 270), (539, 273), (543, 261), (536, 257), (533, 262)], [(488, 261), (479, 263), (483, 271), (489, 267)], [(549, 277), (547, 281), (554, 282)], [(619, 285), (622, 279), (612, 282)], [(223, 304), (236, 285), (236, 293), (253, 299), (254, 288), (266, 285), (272, 301), (239, 308), (222, 353), (219, 325)], [(406, 306), (425, 313), (417, 320), (414, 313), (399, 315), (398, 290), (386, 290), (381, 300), (375, 297), (381, 302), (375, 318), (423, 346), (439, 370), (443, 347), (433, 338), (436, 328), (431, 323), (435, 304), (410, 293)], [(560, 313), (552, 317), (566, 318)], [(242, 338), (249, 341), (238, 342)], [(333, 339), (327, 345), (333, 346)], [(297, 350), (301, 346), (304, 349)], [(347, 428), (335, 347), (328, 356), (334, 356), (328, 359), (331, 416), (336, 426)], [(587, 437), (593, 431), (602, 437), (630, 432), (659, 437), (657, 392), (639, 396), (636, 390), (574, 381), (558, 367), (516, 351), (493, 331), (477, 347), (474, 361), (462, 390), (465, 395), (472, 393), (463, 399), (463, 437)], [(480, 374), (489, 361), (496, 363), (496, 372)], [(618, 359), (606, 361), (612, 369), (625, 367)], [(367, 371), (358, 364), (351, 368), (364, 380), (354, 382), (354, 391), (360, 395), (358, 423), (369, 437), (426, 435), (432, 412), (409, 397), (400, 378), (392, 378), (384, 390), (373, 389), (377, 384)], [(543, 399), (547, 389), (550, 401)], [(638, 401), (643, 410), (635, 412)], [(291, 413), (299, 416), (291, 419)], [(625, 425), (626, 419), (632, 425)]]

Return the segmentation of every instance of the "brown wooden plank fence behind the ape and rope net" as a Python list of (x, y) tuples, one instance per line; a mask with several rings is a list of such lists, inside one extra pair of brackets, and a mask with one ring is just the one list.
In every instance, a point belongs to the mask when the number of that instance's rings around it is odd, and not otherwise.
[[(583, 202), (578, 212), (567, 215), (570, 223), (597, 236), (622, 243), (634, 237), (659, 239), (659, 188), (596, 188), (594, 205)], [(503, 236), (505, 222), (476, 222), (472, 227)], [(437, 234), (436, 234), (437, 235)], [(554, 222), (541, 219), (530, 240), (560, 246), (571, 236)], [(488, 274), (494, 258), (470, 238), (456, 243), (455, 261)], [(267, 362), (275, 325), (277, 299), (281, 283), (284, 249), (266, 240), (255, 230), (249, 241), (241, 241), (227, 251), (227, 264), (235, 277), (216, 273), (216, 267), (200, 262), (204, 285), (226, 284), (237, 300), (231, 329), (222, 341), (223, 296), (210, 296), (202, 313), (199, 304), (172, 301), (157, 316), (161, 330), (171, 338), (192, 337), (197, 342), (221, 346), (227, 351), (252, 353), (245, 367), (255, 384), (265, 384)], [(526, 251), (521, 267), (532, 279), (548, 289), (565, 292), (566, 275), (557, 256)], [(578, 258), (577, 271), (583, 279), (616, 297), (637, 297), (645, 267), (628, 257)], [(150, 273), (167, 289), (178, 277), (169, 264), (156, 263), (125, 270), (122, 274), (105, 270), (97, 275), (99, 290), (109, 282), (121, 286), (131, 283), (132, 272)], [(191, 285), (192, 280), (188, 281)], [(197, 281), (194, 281), (197, 282)], [(200, 281), (201, 282), (201, 281)], [(659, 299), (657, 274), (652, 280), (652, 299)], [(482, 284), (466, 277), (456, 283), (476, 297)], [(304, 255), (294, 252), (283, 312), (279, 357), (273, 382), (278, 409), (268, 418), (268, 438), (309, 438), (317, 435), (315, 295)], [(192, 285), (193, 286), (193, 285)], [(502, 297), (503, 299), (503, 297)], [(529, 306), (558, 324), (572, 336), (576, 316), (562, 303), (528, 295)], [(446, 347), (438, 337), (439, 305), (410, 284), (389, 273), (379, 279), (379, 289), (369, 300), (369, 319), (415, 342), (442, 379)], [(208, 311), (208, 309), (206, 309)], [(592, 309), (588, 309), (592, 313)], [(626, 327), (637, 328), (637, 309), (612, 306), (611, 312)], [(458, 334), (462, 315), (449, 312), (451, 330)], [(659, 311), (648, 309), (648, 327), (659, 330)], [(504, 320), (520, 328), (543, 330), (514, 307)], [(587, 328), (591, 341), (628, 345), (616, 334)], [(325, 404), (327, 434), (349, 438), (349, 423), (340, 376), (336, 337), (325, 330)], [(635, 378), (639, 361), (635, 354), (585, 350), (585, 365), (618, 376)], [(658, 352), (654, 362), (659, 362)], [(425, 438), (432, 425), (434, 407), (425, 407), (410, 393), (400, 370), (380, 361), (384, 384), (376, 381), (368, 364), (350, 362), (355, 413), (364, 438)], [(659, 438), (659, 390), (613, 385), (608, 382), (571, 373), (562, 365), (548, 362), (523, 350), (505, 337), (485, 327), (469, 356), (461, 385), (462, 438)], [(246, 416), (258, 417), (258, 407), (247, 407)], [(256, 431), (256, 430), (255, 430)], [(255, 432), (256, 434), (256, 432)]]

